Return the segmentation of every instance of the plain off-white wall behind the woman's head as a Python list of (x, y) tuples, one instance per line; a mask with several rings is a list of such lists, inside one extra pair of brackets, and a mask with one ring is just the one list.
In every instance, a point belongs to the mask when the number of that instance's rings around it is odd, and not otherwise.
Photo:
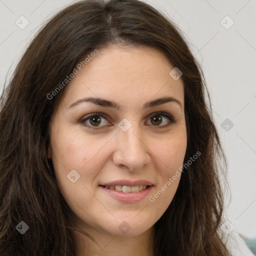
[[(0, 0), (0, 90), (36, 31), (71, 2)], [(237, 232), (256, 237), (256, 1), (146, 2), (179, 26), (202, 65), (228, 160), (227, 219)], [(15, 24), (21, 15), (29, 21), (24, 29)], [(229, 29), (220, 23), (226, 15), (234, 22)], [(222, 23), (228, 27), (231, 19)], [(221, 127), (226, 118), (234, 124), (228, 131)]]

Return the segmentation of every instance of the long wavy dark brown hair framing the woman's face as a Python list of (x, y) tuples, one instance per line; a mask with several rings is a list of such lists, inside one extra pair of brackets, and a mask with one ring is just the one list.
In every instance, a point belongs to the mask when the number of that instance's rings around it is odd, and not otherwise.
[[(0, 254), (76, 255), (71, 210), (61, 196), (51, 160), (48, 126), (65, 90), (51, 93), (80, 59), (107, 45), (147, 45), (182, 71), (187, 149), (170, 205), (154, 224), (154, 256), (231, 255), (220, 235), (223, 194), (218, 171), (225, 156), (213, 123), (202, 70), (182, 33), (138, 0), (86, 0), (61, 10), (38, 32), (1, 95)], [(29, 229), (15, 228), (24, 221)]]

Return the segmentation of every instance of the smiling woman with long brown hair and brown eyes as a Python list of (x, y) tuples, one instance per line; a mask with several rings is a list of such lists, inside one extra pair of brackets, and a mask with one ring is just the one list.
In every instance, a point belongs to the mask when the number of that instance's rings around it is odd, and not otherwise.
[(205, 91), (148, 4), (57, 13), (1, 97), (1, 255), (231, 255)]

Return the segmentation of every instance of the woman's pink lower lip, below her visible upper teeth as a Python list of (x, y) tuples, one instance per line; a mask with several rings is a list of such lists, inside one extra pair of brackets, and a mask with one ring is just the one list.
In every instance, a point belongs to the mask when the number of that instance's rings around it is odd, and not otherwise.
[(142, 199), (144, 199), (152, 189), (153, 185), (147, 186), (145, 189), (140, 190), (138, 192), (122, 192), (122, 191), (117, 191), (115, 189), (108, 189), (104, 186), (100, 186), (106, 193), (111, 195), (113, 198), (115, 198), (118, 201), (121, 202), (137, 202)]

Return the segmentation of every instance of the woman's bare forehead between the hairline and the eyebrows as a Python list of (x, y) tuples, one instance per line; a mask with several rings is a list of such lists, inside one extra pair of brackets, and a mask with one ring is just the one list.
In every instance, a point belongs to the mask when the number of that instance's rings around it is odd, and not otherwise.
[[(62, 96), (65, 105), (85, 96), (143, 103), (159, 96), (175, 96), (183, 104), (182, 79), (174, 80), (166, 56), (151, 47), (107, 47), (77, 69)], [(145, 100), (143, 100), (145, 99)]]

